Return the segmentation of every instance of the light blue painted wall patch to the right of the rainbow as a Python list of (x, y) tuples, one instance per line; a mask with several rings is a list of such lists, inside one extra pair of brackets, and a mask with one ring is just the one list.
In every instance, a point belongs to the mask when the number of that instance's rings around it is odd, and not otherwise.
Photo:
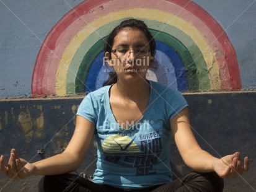
[(193, 0), (223, 27), (237, 54), (243, 90), (256, 89), (256, 1)]

